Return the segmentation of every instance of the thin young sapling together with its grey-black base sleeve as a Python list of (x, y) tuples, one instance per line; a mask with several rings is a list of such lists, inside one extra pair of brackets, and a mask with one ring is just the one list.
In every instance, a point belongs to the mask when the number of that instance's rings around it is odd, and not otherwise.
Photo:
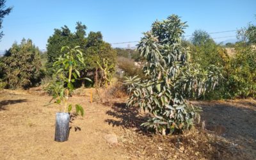
[[(55, 141), (68, 140), (69, 113), (72, 110), (72, 104), (68, 104), (68, 97), (74, 90), (73, 83), (80, 77), (77, 67), (84, 65), (83, 52), (79, 48), (79, 46), (72, 49), (68, 46), (62, 47), (61, 52), (64, 52), (64, 54), (53, 65), (56, 70), (56, 82), (52, 83), (48, 88), (52, 91), (52, 100), (55, 100), (54, 103), (63, 106), (61, 112), (56, 113)], [(91, 81), (88, 78), (84, 79)], [(76, 114), (80, 113), (83, 116), (83, 107), (80, 104), (76, 104), (75, 106)]]

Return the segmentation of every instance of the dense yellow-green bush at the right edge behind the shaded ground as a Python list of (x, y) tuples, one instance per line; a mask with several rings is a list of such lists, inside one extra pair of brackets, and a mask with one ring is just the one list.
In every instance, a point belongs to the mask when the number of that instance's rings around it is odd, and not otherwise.
[(227, 98), (256, 97), (256, 50), (252, 45), (236, 44), (227, 74)]

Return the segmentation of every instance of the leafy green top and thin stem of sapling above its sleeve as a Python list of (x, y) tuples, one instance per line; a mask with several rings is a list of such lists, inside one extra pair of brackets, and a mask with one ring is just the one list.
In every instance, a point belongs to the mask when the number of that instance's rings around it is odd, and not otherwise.
[[(68, 97), (74, 90), (73, 83), (76, 79), (80, 78), (80, 73), (77, 70), (79, 65), (84, 65), (83, 53), (79, 50), (79, 46), (72, 49), (68, 46), (61, 48), (61, 52), (64, 52), (63, 56), (60, 56), (54, 63), (53, 67), (57, 70), (55, 73), (56, 81), (47, 86), (48, 92), (52, 93), (52, 100), (54, 103), (61, 104), (63, 102), (63, 112), (70, 112), (72, 110), (72, 104), (68, 104)], [(88, 81), (91, 81), (88, 78)], [(84, 109), (80, 104), (76, 104), (76, 113), (84, 115)]]

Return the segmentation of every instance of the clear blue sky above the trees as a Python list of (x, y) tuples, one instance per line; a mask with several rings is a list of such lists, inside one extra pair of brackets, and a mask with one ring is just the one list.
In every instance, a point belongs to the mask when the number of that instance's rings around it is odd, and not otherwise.
[[(7, 0), (13, 11), (3, 20), (4, 36), (0, 50), (8, 49), (13, 42), (31, 38), (40, 49), (45, 49), (54, 28), (67, 25), (74, 31), (81, 21), (89, 31), (101, 31), (106, 42), (140, 40), (154, 20), (163, 20), (173, 13), (188, 21), (185, 35), (195, 29), (209, 33), (229, 31), (255, 24), (256, 1), (164, 1), (164, 0)], [(212, 38), (234, 36), (236, 32), (212, 34)], [(221, 42), (230, 38), (220, 38)], [(234, 38), (231, 38), (234, 39)], [(118, 44), (113, 47), (131, 47), (135, 44)]]

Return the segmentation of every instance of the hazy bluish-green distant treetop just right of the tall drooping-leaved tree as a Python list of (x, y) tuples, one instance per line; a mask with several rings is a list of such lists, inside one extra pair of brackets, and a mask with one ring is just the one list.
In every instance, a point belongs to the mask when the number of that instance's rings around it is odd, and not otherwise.
[(202, 30), (195, 30), (191, 37), (191, 42), (193, 45), (204, 45), (208, 41), (212, 41), (211, 36)]

